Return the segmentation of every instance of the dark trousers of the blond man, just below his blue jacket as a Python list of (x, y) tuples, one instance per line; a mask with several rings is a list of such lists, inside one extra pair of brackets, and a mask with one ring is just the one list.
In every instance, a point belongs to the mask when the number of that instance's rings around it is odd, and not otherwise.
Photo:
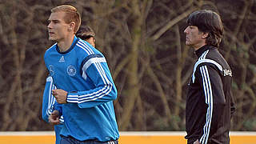
[(108, 142), (99, 142), (96, 140), (78, 141), (77, 139), (72, 137), (62, 136), (60, 144), (118, 144), (118, 140), (113, 140)]

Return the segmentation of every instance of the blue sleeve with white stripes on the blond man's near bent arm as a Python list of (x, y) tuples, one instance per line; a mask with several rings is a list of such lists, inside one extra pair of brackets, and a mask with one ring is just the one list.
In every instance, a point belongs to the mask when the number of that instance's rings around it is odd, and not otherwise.
[(69, 92), (67, 102), (78, 103), (80, 108), (102, 105), (117, 98), (118, 92), (114, 86), (106, 59), (101, 54), (92, 54), (82, 62), (82, 78), (90, 81), (93, 89)]

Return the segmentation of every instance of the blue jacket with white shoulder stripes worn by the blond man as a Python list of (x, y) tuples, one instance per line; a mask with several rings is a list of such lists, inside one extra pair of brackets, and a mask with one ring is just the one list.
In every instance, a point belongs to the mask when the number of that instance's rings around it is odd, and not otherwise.
[(55, 43), (44, 58), (54, 86), (68, 92), (66, 104), (54, 105), (64, 117), (61, 134), (79, 141), (118, 139), (117, 89), (103, 54), (74, 36), (69, 50), (60, 52)]

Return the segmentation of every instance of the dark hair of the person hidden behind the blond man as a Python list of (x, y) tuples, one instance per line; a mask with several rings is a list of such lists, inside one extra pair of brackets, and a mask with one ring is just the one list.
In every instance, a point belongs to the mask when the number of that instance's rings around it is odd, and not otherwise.
[(90, 26), (81, 26), (78, 30), (77, 37), (83, 40), (87, 40), (91, 37), (95, 37), (94, 30), (90, 28)]

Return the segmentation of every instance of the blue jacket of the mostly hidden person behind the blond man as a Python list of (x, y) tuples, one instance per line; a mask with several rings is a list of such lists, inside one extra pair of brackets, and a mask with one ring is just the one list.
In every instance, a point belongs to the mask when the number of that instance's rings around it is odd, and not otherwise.
[[(54, 89), (56, 89), (56, 86), (54, 86), (53, 78), (49, 76), (46, 78), (46, 86), (45, 86), (45, 90), (43, 92), (43, 97), (42, 97), (42, 119), (46, 122), (48, 122), (49, 115), (53, 112), (54, 103), (56, 102), (56, 99), (54, 98), (51, 92), (51, 90), (54, 90)], [(61, 124), (54, 126), (56, 144), (60, 144), (60, 139), (61, 139), (60, 131), (62, 130), (62, 126), (64, 122), (64, 119), (62, 116), (60, 118), (60, 121), (61, 121)]]

